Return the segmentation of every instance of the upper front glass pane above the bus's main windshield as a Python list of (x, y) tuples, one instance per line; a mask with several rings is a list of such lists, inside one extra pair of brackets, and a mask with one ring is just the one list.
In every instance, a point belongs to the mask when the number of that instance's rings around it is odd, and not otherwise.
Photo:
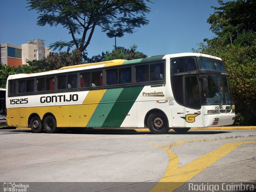
[(221, 60), (199, 57), (198, 63), (201, 70), (214, 70), (227, 73), (224, 63)]

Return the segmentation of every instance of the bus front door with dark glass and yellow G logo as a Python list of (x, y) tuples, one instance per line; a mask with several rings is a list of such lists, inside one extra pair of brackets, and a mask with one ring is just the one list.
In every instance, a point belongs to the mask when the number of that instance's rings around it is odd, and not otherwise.
[(203, 127), (203, 113), (198, 76), (184, 76), (186, 127)]

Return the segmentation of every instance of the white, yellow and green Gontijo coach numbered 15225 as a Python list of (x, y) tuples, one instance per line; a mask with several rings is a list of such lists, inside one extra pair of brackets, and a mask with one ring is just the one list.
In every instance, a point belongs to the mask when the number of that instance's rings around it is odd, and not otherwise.
[(62, 128), (171, 128), (231, 125), (235, 107), (220, 58), (198, 53), (67, 66), (7, 79), (7, 124), (32, 132)]

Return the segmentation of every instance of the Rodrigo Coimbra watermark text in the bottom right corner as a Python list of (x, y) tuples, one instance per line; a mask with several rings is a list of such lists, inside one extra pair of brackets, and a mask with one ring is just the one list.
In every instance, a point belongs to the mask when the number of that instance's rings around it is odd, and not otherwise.
[(243, 184), (243, 183), (220, 183), (220, 184), (209, 184), (209, 183), (201, 183), (201, 184), (188, 184), (189, 191), (254, 191), (254, 185), (252, 184)]

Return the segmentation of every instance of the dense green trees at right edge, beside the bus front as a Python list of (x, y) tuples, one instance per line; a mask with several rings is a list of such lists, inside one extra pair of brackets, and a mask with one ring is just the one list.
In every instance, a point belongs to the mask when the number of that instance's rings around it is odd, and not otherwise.
[(224, 3), (207, 22), (217, 37), (204, 39), (194, 52), (222, 58), (230, 74), (236, 105), (236, 125), (256, 125), (256, 2), (236, 0)]

